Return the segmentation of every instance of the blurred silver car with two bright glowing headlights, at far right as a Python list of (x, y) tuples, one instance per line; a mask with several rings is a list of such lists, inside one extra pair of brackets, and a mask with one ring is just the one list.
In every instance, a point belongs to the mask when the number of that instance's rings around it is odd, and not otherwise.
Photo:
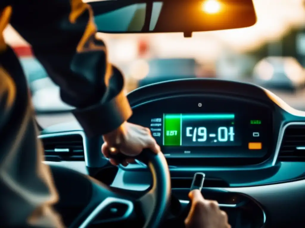
[(267, 57), (254, 67), (253, 79), (265, 88), (295, 91), (304, 88), (305, 70), (293, 57)]

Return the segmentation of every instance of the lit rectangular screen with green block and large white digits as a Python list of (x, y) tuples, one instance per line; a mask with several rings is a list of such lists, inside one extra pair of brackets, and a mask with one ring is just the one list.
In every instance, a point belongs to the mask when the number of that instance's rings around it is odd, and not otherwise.
[(164, 146), (240, 146), (235, 114), (164, 114)]

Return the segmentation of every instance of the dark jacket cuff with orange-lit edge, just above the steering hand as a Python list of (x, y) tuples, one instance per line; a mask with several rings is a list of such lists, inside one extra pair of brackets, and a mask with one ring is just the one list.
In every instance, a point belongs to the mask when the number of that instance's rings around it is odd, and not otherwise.
[(109, 133), (132, 115), (126, 95), (121, 91), (112, 100), (85, 109), (75, 109), (73, 114), (88, 137)]

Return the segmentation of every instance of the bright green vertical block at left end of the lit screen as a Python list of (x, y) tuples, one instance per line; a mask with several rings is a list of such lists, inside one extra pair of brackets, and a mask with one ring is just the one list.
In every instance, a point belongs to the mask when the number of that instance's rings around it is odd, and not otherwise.
[(181, 114), (164, 114), (163, 116), (163, 145), (181, 145)]

